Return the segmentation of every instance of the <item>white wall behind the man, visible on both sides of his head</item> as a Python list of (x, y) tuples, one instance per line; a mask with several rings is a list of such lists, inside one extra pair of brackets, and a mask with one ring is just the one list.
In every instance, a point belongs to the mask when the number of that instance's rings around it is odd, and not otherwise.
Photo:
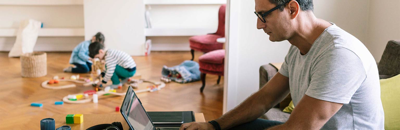
[[(230, 4), (224, 112), (256, 92), (260, 66), (283, 62), (291, 45), (288, 41), (271, 42), (268, 35), (256, 29), (254, 1), (230, 0)], [(366, 41), (369, 4), (364, 0), (314, 0), (314, 13), (317, 18), (333, 22), (361, 41)]]

